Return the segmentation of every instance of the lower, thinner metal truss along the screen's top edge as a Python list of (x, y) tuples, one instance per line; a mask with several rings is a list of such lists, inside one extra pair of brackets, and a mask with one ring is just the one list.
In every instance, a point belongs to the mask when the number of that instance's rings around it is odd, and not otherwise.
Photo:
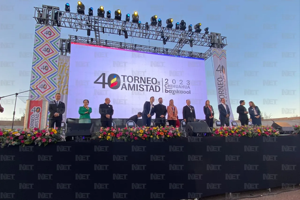
[(77, 43), (82, 43), (82, 44), (93, 44), (93, 45), (100, 45), (100, 46), (104, 46), (104, 47), (114, 47), (114, 48), (119, 48), (119, 49), (129, 49), (129, 50), (159, 53), (159, 54), (168, 54), (168, 55), (173, 55), (173, 56), (202, 58), (205, 60), (209, 56), (211, 56), (211, 50), (208, 50), (205, 53), (196, 53), (196, 52), (192, 52), (192, 51), (174, 50), (174, 49), (167, 49), (167, 48), (162, 48), (162, 47), (151, 47), (151, 46), (109, 41), (109, 40), (99, 40), (96, 42), (94, 38), (81, 37), (81, 36), (76, 36), (76, 35), (69, 35), (69, 39), (61, 39), (60, 40), (60, 48), (59, 49), (60, 49), (61, 55), (66, 56), (67, 53), (70, 53), (70, 42), (77, 42)]

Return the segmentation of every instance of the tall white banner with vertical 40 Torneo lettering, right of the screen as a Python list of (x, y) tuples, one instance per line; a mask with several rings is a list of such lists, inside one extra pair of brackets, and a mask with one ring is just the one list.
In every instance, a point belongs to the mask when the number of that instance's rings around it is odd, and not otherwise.
[(225, 98), (226, 104), (230, 110), (230, 123), (234, 120), (233, 112), (230, 105), (228, 80), (227, 80), (227, 59), (226, 50), (224, 49), (212, 49), (212, 58), (214, 63), (214, 79), (217, 89), (217, 102), (221, 103), (221, 99)]

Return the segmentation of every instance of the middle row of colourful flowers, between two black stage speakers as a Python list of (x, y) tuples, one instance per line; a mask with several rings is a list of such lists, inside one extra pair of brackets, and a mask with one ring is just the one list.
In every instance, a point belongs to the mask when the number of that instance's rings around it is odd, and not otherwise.
[(100, 131), (94, 132), (92, 139), (99, 139), (100, 141), (108, 140), (113, 141), (115, 139), (124, 141), (134, 140), (149, 140), (153, 139), (168, 139), (177, 138), (182, 135), (182, 131), (179, 127), (167, 126), (167, 127), (128, 127), (128, 128), (101, 128)]

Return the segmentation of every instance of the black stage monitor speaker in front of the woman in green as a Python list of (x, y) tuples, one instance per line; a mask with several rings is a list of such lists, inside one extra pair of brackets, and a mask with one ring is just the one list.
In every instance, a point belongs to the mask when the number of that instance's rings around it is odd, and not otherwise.
[(93, 123), (73, 124), (68, 123), (66, 127), (66, 136), (90, 136), (93, 132)]

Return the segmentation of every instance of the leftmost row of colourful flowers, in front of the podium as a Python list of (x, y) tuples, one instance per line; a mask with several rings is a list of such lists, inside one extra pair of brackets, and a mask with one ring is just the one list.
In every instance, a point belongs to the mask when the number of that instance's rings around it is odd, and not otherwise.
[(64, 133), (56, 129), (0, 129), (1, 148), (9, 145), (38, 144), (46, 146), (49, 143), (65, 141)]

